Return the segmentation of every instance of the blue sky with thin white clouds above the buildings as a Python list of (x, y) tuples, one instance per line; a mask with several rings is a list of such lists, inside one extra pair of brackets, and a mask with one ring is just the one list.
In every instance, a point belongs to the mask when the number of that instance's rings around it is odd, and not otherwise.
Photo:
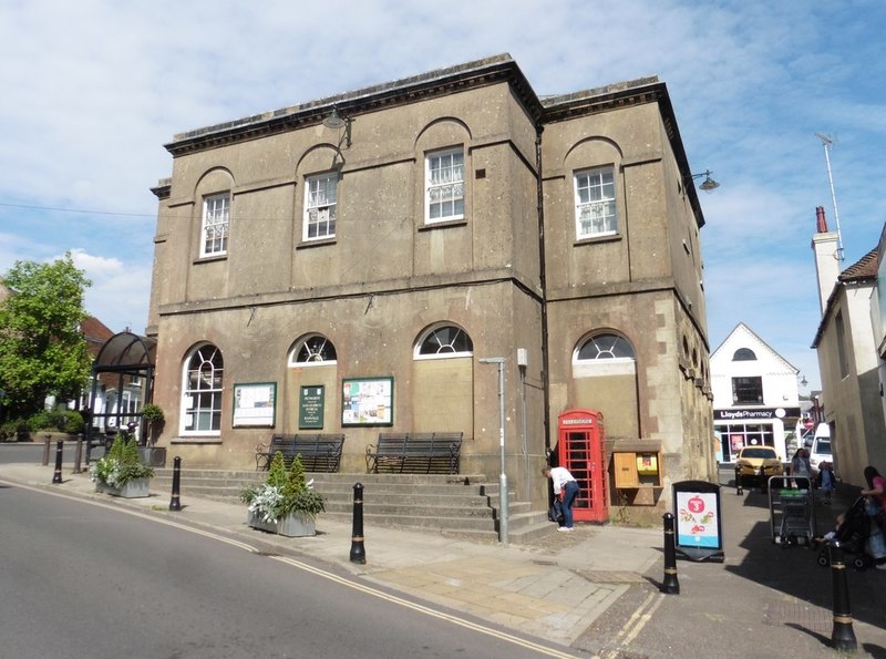
[(539, 95), (667, 83), (701, 193), (713, 351), (744, 322), (820, 387), (815, 207), (844, 267), (886, 220), (886, 3), (55, 0), (0, 6), (0, 272), (70, 250), (87, 310), (144, 331), (174, 134), (511, 53)]

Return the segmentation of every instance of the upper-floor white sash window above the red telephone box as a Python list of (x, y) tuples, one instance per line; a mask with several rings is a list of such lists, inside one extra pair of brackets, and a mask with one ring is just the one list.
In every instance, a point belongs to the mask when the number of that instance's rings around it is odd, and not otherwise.
[(575, 172), (573, 183), (576, 238), (618, 234), (615, 167), (607, 165)]

